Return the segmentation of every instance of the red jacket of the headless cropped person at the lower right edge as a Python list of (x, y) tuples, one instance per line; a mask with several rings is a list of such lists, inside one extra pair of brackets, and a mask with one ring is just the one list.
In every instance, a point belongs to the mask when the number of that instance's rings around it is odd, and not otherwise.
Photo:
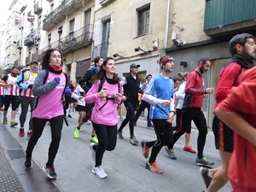
[[(238, 78), (238, 87), (233, 87), (229, 96), (218, 108), (236, 112), (250, 125), (256, 127), (256, 67), (248, 69)], [(244, 188), (241, 191), (256, 191), (256, 146), (234, 131), (234, 151), (230, 160), (230, 182)], [(238, 191), (238, 190), (237, 190)]]

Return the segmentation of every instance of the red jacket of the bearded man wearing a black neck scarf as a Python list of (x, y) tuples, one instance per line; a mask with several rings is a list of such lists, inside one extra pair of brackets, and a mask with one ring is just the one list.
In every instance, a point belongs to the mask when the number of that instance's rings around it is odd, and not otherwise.
[[(242, 69), (244, 72), (246, 69)], [(241, 65), (236, 62), (230, 63), (228, 66), (224, 67), (218, 75), (218, 86), (215, 92), (216, 103), (212, 113), (215, 113), (215, 109), (218, 106), (218, 103), (223, 101), (226, 96), (230, 94), (232, 86), (238, 86), (239, 74), (241, 73)]]

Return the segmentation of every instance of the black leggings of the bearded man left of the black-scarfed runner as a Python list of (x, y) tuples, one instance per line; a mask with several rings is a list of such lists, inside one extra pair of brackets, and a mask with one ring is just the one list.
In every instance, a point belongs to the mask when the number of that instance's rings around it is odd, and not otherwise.
[(207, 138), (207, 120), (201, 108), (183, 108), (182, 109), (182, 119), (181, 119), (181, 129), (175, 131), (173, 134), (172, 144), (169, 148), (173, 148), (173, 145), (177, 142), (179, 137), (181, 137), (186, 131), (191, 127), (191, 121), (194, 121), (199, 134), (197, 137), (197, 157), (201, 159), (203, 157), (203, 150)]

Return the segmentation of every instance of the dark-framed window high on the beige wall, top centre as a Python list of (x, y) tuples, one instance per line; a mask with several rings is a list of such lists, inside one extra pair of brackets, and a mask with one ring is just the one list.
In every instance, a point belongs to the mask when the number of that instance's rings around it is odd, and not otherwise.
[(138, 9), (137, 35), (148, 34), (150, 6)]

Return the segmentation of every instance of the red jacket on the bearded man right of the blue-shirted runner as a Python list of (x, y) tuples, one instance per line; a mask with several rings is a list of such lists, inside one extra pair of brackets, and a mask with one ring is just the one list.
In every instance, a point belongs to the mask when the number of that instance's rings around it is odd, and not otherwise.
[(201, 74), (194, 70), (187, 76), (183, 108), (201, 108), (204, 93), (205, 90)]

